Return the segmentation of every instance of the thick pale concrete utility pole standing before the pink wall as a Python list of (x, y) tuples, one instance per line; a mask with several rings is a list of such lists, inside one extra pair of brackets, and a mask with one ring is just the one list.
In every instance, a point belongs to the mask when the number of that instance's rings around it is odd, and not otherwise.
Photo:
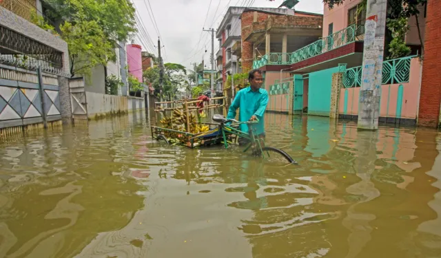
[(358, 129), (378, 129), (386, 10), (387, 0), (367, 0)]

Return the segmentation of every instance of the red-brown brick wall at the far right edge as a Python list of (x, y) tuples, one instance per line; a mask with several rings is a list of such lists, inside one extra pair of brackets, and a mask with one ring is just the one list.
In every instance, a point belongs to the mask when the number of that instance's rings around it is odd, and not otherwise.
[(441, 1), (427, 2), (424, 35), (424, 65), (420, 93), (418, 125), (440, 125), (441, 105)]

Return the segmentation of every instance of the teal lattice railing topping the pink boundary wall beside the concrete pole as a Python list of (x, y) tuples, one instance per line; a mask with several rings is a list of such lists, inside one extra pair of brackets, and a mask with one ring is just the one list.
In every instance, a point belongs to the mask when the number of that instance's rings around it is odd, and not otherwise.
[[(409, 83), (411, 72), (411, 58), (416, 56), (406, 56), (403, 58), (392, 59), (383, 62), (382, 85), (394, 83)], [(346, 69), (343, 86), (345, 88), (361, 86), (362, 67), (352, 67)]]

